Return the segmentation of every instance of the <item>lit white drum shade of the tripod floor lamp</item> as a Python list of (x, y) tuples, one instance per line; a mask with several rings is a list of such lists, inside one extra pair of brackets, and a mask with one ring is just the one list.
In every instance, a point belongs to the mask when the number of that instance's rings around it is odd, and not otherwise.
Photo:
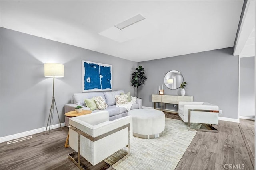
[(64, 77), (64, 65), (58, 63), (45, 63), (44, 64), (45, 77)]

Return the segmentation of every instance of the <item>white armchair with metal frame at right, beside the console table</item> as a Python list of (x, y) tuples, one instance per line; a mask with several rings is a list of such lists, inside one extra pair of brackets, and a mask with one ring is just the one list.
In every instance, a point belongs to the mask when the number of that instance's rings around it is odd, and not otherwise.
[(217, 130), (211, 126), (218, 125), (219, 107), (217, 105), (207, 102), (179, 102), (178, 114), (184, 122), (188, 122), (189, 129), (190, 123), (203, 123), (210, 126), (212, 130)]

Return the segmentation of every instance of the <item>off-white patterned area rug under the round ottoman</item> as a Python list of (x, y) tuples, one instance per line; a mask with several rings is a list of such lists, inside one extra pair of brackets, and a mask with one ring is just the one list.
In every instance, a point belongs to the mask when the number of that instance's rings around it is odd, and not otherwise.
[(180, 120), (165, 119), (165, 130), (156, 139), (133, 137), (131, 154), (114, 165), (116, 170), (174, 170), (196, 131)]

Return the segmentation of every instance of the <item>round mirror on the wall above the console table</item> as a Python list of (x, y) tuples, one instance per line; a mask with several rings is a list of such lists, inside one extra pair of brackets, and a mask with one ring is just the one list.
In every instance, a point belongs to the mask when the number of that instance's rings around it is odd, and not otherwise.
[(172, 90), (180, 88), (183, 82), (183, 76), (176, 70), (169, 71), (164, 76), (164, 85)]

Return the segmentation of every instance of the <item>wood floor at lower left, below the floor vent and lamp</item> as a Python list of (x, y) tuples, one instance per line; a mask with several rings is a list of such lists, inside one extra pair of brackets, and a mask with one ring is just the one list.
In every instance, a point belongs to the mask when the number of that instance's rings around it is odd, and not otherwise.
[(64, 148), (68, 128), (32, 135), (32, 139), (0, 146), (1, 170), (79, 170), (69, 159), (73, 150)]

